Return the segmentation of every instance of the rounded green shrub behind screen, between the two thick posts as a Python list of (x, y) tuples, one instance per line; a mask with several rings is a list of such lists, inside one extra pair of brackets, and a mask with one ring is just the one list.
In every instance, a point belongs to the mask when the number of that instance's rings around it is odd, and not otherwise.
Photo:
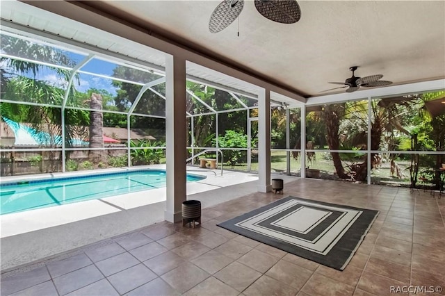
[[(216, 139), (213, 139), (213, 143), (216, 145)], [(228, 130), (225, 131), (225, 135), (219, 136), (218, 145), (220, 148), (247, 148), (248, 136), (244, 133)], [(254, 147), (254, 143), (252, 143), (252, 147)], [(232, 165), (232, 167), (238, 163), (247, 161), (245, 156), (243, 156), (243, 151), (237, 150), (223, 149), (223, 158), (224, 161)]]

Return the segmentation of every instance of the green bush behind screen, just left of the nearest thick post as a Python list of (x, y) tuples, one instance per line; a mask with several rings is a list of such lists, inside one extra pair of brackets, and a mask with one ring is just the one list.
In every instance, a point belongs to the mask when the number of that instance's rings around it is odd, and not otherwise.
[(151, 142), (149, 140), (140, 140), (138, 142), (130, 141), (131, 163), (133, 165), (152, 165), (159, 163), (164, 157), (164, 149), (155, 147), (165, 147), (163, 142)]

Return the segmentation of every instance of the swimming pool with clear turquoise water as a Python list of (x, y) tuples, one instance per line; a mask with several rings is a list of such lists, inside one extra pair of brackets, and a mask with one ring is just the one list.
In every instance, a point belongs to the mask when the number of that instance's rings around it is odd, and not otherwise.
[[(204, 178), (187, 174), (188, 182)], [(2, 183), (0, 214), (162, 188), (165, 183), (165, 170), (150, 169)]]

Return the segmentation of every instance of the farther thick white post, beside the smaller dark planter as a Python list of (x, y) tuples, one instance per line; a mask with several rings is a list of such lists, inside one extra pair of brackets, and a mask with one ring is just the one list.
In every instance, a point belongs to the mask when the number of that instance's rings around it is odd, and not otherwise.
[(269, 192), (270, 186), (270, 91), (258, 95), (258, 191)]

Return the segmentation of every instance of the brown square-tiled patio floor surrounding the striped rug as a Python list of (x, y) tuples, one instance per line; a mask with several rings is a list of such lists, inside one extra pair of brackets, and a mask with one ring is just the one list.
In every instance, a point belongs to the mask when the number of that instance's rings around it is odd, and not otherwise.
[[(394, 295), (398, 287), (445, 288), (445, 197), (314, 179), (287, 183), (284, 193), (204, 208), (195, 229), (161, 222), (10, 271), (2, 274), (1, 295)], [(380, 211), (343, 272), (216, 226), (287, 195)]]

